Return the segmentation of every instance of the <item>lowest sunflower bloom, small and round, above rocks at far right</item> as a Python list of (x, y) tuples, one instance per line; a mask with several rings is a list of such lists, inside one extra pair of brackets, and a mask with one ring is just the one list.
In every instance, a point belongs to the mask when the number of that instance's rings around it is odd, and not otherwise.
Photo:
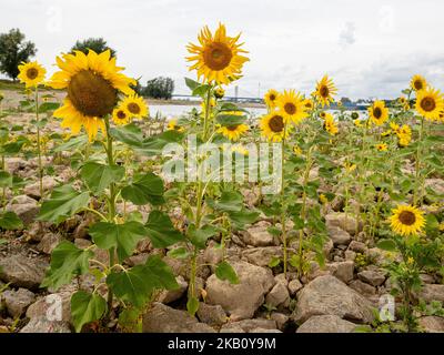
[(411, 205), (398, 205), (390, 217), (392, 231), (401, 235), (418, 234), (425, 225), (424, 213)]

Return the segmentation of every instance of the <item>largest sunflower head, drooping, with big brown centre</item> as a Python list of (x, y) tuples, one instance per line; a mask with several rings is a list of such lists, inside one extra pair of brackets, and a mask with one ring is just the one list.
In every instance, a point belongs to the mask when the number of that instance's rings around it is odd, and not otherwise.
[(115, 65), (109, 50), (100, 54), (90, 50), (88, 55), (74, 51), (58, 57), (57, 64), (61, 71), (52, 75), (50, 87), (67, 89), (68, 95), (54, 116), (63, 119), (61, 125), (74, 134), (83, 125), (93, 140), (99, 129), (105, 131), (103, 118), (114, 110), (119, 92), (133, 94), (130, 84), (135, 84), (135, 80), (120, 73), (123, 68)]

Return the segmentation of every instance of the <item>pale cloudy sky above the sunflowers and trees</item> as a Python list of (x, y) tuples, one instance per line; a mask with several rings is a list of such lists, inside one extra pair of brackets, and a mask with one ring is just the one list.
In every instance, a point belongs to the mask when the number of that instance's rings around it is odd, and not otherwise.
[(329, 74), (339, 97), (392, 99), (415, 73), (444, 89), (443, 13), (442, 0), (1, 0), (0, 33), (19, 28), (50, 73), (77, 40), (103, 37), (127, 74), (170, 77), (188, 94), (185, 45), (223, 22), (249, 51), (240, 97), (307, 94)]

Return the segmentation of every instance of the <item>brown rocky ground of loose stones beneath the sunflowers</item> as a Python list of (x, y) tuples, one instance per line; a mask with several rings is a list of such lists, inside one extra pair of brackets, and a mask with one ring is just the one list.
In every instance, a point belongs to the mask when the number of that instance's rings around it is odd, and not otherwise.
[[(20, 123), (31, 115), (18, 114), (12, 119)], [(10, 118), (9, 118), (10, 119)], [(48, 129), (56, 129), (50, 122)], [(70, 297), (80, 285), (90, 290), (92, 281), (79, 277), (57, 293), (39, 287), (49, 266), (50, 253), (63, 239), (79, 247), (90, 246), (88, 225), (91, 215), (78, 215), (59, 226), (34, 222), (39, 211), (39, 189), (36, 181), (36, 159), (9, 158), (10, 173), (28, 179), (22, 193), (8, 195), (7, 210), (16, 212), (27, 229), (0, 234), (0, 332), (72, 332)], [(53, 168), (53, 175), (43, 180), (49, 192), (59, 183), (69, 181), (74, 172), (69, 160), (59, 162), (44, 159)], [(430, 179), (426, 183), (444, 193), (444, 181)], [(248, 203), (253, 205), (254, 191), (244, 191)], [(129, 206), (131, 207), (131, 206)], [(290, 273), (287, 280), (279, 267), (269, 267), (272, 256), (281, 255), (280, 241), (268, 232), (271, 225), (265, 217), (244, 232), (236, 232), (228, 244), (229, 262), (238, 272), (240, 283), (232, 285), (220, 281), (209, 266), (199, 270), (196, 287), (201, 304), (195, 317), (185, 310), (189, 286), (189, 267), (181, 260), (164, 257), (178, 275), (178, 291), (164, 291), (143, 317), (143, 332), (221, 332), (221, 333), (316, 333), (354, 332), (357, 326), (374, 321), (373, 310), (380, 306), (381, 296), (390, 293), (391, 284), (382, 267), (384, 252), (369, 245), (364, 233), (357, 231), (356, 221), (341, 212), (334, 203), (325, 211), (330, 241), (324, 247), (326, 267), (312, 264), (310, 273), (301, 280)], [(290, 245), (295, 248), (296, 245)], [(143, 263), (151, 244), (139, 243), (137, 252), (127, 260), (129, 265)], [(159, 252), (159, 251), (157, 251)], [(201, 264), (216, 264), (221, 251), (209, 243), (200, 255)], [(107, 254), (97, 251), (97, 258), (107, 261)], [(424, 274), (423, 292), (416, 295), (426, 302), (444, 303), (444, 285), (441, 280)], [(51, 321), (54, 296), (62, 300), (62, 314)], [(57, 317), (56, 317), (57, 318)], [(444, 332), (444, 318), (422, 316), (421, 326), (427, 332)], [(110, 328), (113, 329), (113, 324)]]

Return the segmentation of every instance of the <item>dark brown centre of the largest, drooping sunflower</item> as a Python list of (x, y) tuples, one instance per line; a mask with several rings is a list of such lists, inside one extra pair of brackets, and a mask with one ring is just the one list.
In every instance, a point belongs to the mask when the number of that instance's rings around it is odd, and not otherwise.
[(112, 112), (118, 92), (102, 75), (82, 70), (72, 77), (68, 98), (84, 115), (102, 118)]

